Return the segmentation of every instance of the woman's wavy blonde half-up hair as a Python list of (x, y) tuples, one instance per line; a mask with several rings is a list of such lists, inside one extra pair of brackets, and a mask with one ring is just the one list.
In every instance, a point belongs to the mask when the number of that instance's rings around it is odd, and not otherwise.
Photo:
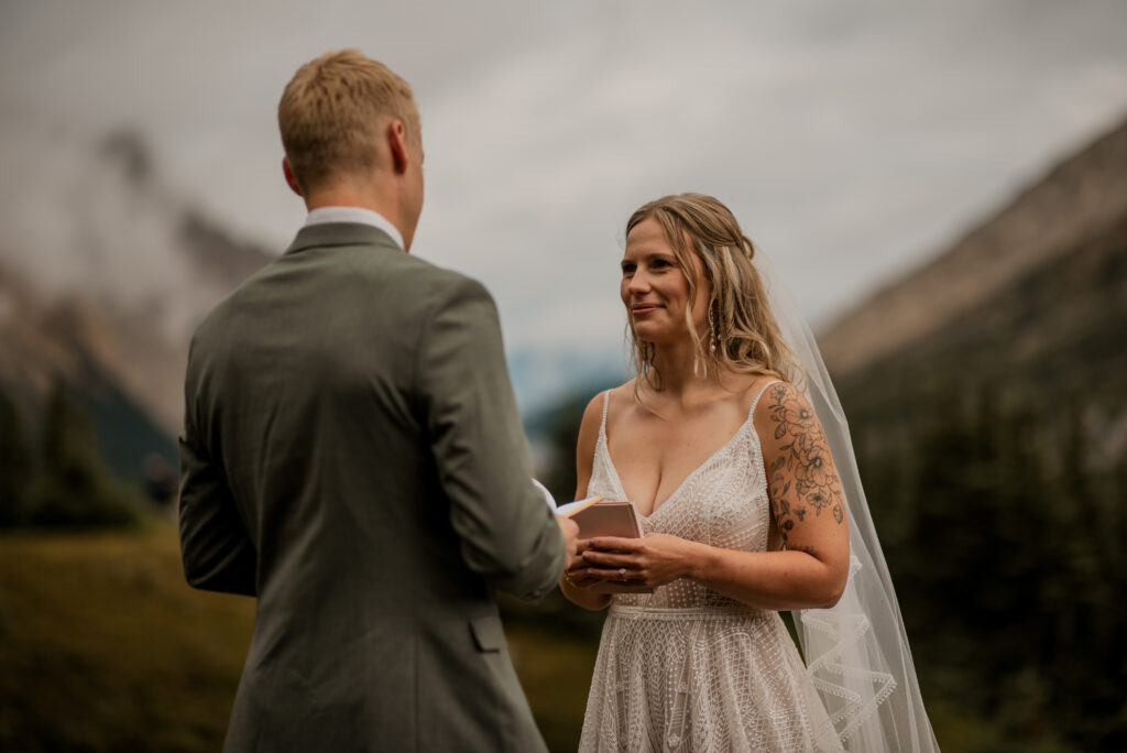
[[(727, 206), (704, 194), (664, 196), (640, 206), (627, 222), (627, 236), (644, 220), (655, 219), (677, 257), (689, 282), (685, 319), (696, 355), (694, 371), (706, 373), (773, 374), (800, 382), (801, 367), (783, 340), (767, 301), (758, 269), (752, 263), (755, 245), (744, 234)], [(691, 249), (691, 250), (690, 250)], [(698, 285), (690, 256), (695, 253), (709, 281), (708, 330), (698, 333), (692, 320)], [(632, 361), (639, 378), (654, 381), (654, 345), (638, 339), (633, 322), (627, 328), (632, 345)]]

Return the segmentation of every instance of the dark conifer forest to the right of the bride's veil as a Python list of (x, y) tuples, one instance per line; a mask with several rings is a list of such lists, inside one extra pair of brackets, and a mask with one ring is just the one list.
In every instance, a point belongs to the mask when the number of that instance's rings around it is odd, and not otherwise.
[(925, 699), (999, 739), (1127, 748), (1127, 460), (1091, 462), (1083, 405), (1061, 426), (990, 386), (907, 411), (908, 441), (859, 464)]

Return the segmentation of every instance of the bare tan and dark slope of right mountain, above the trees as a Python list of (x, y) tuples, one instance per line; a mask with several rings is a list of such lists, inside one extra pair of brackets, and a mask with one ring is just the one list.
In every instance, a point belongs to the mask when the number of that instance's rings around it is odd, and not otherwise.
[(1127, 121), (819, 334), (853, 423), (937, 389), (1085, 406), (1127, 443)]

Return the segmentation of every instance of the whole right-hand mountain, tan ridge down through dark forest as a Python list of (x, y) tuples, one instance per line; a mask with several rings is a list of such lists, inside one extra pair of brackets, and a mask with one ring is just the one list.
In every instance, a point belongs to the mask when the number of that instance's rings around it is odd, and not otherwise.
[(1127, 750), (1127, 123), (820, 342), (947, 747)]

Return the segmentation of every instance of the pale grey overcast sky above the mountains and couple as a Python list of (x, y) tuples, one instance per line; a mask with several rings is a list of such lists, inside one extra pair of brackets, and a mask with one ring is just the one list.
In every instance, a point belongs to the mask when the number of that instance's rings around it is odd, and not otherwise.
[(415, 253), (490, 287), (511, 354), (605, 361), (639, 204), (715, 194), (824, 324), (1127, 115), (1125, 32), (1121, 0), (3, 0), (0, 125), (133, 127), (282, 250), (277, 98), (360, 47), (423, 113)]

